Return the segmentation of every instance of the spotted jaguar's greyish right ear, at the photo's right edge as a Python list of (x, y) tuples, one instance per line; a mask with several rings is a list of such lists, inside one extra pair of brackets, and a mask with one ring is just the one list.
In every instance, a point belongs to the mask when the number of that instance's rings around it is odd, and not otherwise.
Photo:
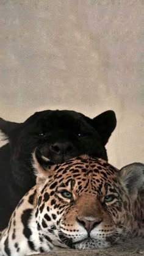
[(121, 168), (120, 179), (128, 189), (132, 200), (137, 198), (137, 194), (144, 190), (144, 164), (132, 163)]

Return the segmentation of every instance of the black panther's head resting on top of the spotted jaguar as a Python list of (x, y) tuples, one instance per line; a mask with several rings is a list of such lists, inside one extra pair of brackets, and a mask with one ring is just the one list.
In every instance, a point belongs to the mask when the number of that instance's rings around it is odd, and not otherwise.
[(94, 119), (67, 110), (36, 112), (24, 123), (0, 119), (0, 129), (9, 139), (13, 172), (15, 169), (20, 172), (21, 166), (26, 171), (31, 169), (36, 147), (53, 163), (82, 154), (107, 160), (104, 146), (115, 126), (113, 111), (103, 112)]

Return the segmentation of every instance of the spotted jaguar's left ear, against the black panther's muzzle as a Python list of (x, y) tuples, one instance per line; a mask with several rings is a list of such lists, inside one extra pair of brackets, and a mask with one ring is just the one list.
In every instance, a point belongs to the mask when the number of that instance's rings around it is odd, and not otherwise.
[(37, 176), (36, 185), (38, 191), (41, 191), (45, 185), (46, 180), (48, 180), (49, 176), (52, 175), (52, 170), (56, 165), (52, 163), (48, 158), (41, 155), (41, 152), (38, 148), (35, 149), (35, 152), (32, 155), (32, 166), (34, 167), (35, 175)]

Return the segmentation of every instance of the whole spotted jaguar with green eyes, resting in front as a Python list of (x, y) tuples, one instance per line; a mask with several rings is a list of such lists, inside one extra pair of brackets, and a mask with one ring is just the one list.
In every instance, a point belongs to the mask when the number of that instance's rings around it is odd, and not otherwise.
[(90, 156), (51, 168), (43, 161), (34, 156), (37, 185), (18, 203), (2, 232), (1, 256), (57, 247), (96, 249), (144, 236), (143, 164), (119, 171)]

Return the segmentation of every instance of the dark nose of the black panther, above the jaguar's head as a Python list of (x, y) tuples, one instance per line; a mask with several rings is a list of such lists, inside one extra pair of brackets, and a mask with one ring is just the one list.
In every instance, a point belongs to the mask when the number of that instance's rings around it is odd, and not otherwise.
[(70, 153), (73, 150), (73, 144), (71, 142), (56, 142), (50, 146), (50, 150), (57, 154)]

